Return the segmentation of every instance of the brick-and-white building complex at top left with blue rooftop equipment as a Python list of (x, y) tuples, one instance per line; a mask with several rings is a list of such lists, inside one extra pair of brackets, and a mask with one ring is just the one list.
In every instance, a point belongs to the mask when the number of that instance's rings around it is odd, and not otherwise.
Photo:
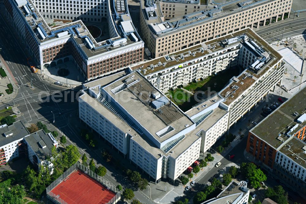
[[(43, 69), (74, 60), (84, 78), (91, 80), (143, 60), (144, 42), (132, 24), (126, 1), (73, 2), (5, 1), (6, 13), (36, 65)], [(48, 24), (39, 11), (67, 23)], [(97, 42), (82, 20), (102, 21), (102, 17), (107, 18), (110, 39)]]

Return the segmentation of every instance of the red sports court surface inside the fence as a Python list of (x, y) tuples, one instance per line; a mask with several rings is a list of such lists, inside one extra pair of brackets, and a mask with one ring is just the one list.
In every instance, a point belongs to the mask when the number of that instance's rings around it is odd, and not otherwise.
[(74, 171), (52, 191), (67, 203), (109, 202), (115, 193), (82, 171)]

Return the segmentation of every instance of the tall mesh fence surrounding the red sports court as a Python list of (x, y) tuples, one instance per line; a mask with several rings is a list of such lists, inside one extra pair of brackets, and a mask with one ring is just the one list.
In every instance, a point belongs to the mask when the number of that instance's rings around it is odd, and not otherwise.
[[(73, 164), (70, 168), (68, 168), (61, 176), (59, 176), (57, 179), (55, 179), (47, 188), (47, 197), (52, 200), (55, 203), (60, 203), (60, 204), (68, 204), (67, 202), (65, 202), (64, 200), (62, 200), (61, 198), (59, 198), (59, 195), (55, 195), (53, 192), (51, 192), (58, 184), (60, 184), (62, 181), (65, 181), (65, 179), (67, 179), (69, 177), (69, 175), (77, 170), (81, 170), (84, 173), (86, 173), (87, 175), (89, 175), (91, 178), (99, 181), (100, 183), (102, 183), (104, 186), (107, 187), (108, 190), (111, 190), (113, 192), (116, 191), (116, 186), (113, 185), (113, 183), (111, 183), (109, 180), (104, 179), (103, 176), (99, 176), (98, 174), (96, 174), (95, 172), (91, 171), (87, 166), (84, 166), (83, 164), (81, 164), (79, 161), (75, 164)], [(116, 192), (115, 192), (116, 193)], [(118, 201), (120, 201), (121, 199), (121, 192), (117, 192), (116, 195), (110, 199), (109, 202), (107, 202), (107, 204), (114, 204), (117, 203)]]

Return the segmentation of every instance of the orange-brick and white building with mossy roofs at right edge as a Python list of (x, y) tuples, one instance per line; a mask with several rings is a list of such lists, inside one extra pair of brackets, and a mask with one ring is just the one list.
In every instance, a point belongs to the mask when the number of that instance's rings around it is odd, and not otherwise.
[(282, 183), (306, 193), (306, 143), (300, 132), (306, 127), (306, 88), (285, 101), (249, 131), (246, 151)]

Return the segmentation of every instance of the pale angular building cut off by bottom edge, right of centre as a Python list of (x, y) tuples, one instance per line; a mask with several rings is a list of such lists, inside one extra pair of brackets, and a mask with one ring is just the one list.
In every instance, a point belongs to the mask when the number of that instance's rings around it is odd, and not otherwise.
[(236, 183), (232, 181), (224, 190), (215, 198), (211, 198), (201, 204), (219, 204), (219, 203), (231, 203), (231, 204), (244, 204), (248, 203), (250, 190), (247, 188), (245, 181)]

